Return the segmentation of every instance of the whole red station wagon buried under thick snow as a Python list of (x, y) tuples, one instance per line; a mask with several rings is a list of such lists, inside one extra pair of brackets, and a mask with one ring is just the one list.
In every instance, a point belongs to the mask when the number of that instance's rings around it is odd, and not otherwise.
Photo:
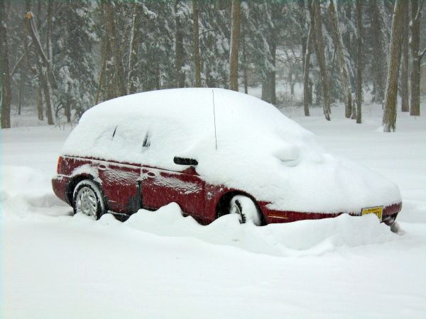
[(277, 108), (225, 89), (123, 96), (86, 111), (65, 142), (55, 194), (95, 219), (178, 203), (208, 224), (374, 213), (392, 225), (398, 186), (324, 152)]

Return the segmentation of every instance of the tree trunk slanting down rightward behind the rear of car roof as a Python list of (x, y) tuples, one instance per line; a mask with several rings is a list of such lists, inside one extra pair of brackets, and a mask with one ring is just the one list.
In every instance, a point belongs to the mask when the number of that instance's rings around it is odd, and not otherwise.
[(109, 35), (109, 43), (111, 45), (112, 54), (114, 55), (114, 70), (116, 75), (116, 96), (124, 96), (127, 94), (126, 83), (124, 79), (123, 59), (121, 57), (121, 50), (119, 47), (119, 40), (116, 33), (116, 23), (114, 18), (114, 8), (112, 0), (106, 0), (105, 18), (107, 19), (107, 33)]

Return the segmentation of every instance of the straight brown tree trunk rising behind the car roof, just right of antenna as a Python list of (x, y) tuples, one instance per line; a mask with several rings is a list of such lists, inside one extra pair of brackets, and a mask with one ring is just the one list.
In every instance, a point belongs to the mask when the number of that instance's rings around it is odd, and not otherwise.
[(231, 48), (229, 49), (229, 89), (238, 91), (238, 47), (241, 0), (232, 0)]

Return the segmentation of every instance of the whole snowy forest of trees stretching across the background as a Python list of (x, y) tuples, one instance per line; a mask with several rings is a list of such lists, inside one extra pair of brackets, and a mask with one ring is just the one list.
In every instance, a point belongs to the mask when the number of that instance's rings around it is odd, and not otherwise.
[[(41, 121), (72, 121), (117, 96), (224, 87), (278, 105), (278, 77), (305, 115), (342, 101), (362, 122), (363, 92), (383, 103), (385, 130), (420, 115), (425, 0), (1, 0), (1, 127), (34, 106)], [(424, 21), (423, 21), (424, 22)], [(410, 40), (410, 43), (408, 39)]]

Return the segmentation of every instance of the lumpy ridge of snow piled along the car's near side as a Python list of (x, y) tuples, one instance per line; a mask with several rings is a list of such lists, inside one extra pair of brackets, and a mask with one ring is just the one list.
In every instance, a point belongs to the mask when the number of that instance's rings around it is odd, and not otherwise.
[[(107, 214), (99, 223), (115, 225), (116, 220)], [(337, 218), (257, 227), (252, 223), (241, 225), (238, 216), (231, 214), (202, 226), (191, 217), (183, 217), (176, 203), (155, 212), (140, 210), (123, 225), (155, 235), (191, 237), (214, 245), (283, 257), (322, 255), (340, 248), (381, 244), (400, 237), (388, 226), (378, 223), (373, 215), (352, 217), (345, 214)]]

